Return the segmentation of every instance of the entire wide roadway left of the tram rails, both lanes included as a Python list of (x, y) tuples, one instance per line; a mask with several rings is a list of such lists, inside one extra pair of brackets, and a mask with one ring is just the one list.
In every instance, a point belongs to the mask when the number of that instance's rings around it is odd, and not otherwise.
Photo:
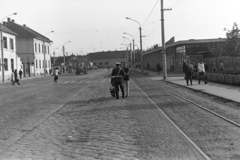
[(203, 159), (134, 83), (112, 98), (109, 74), (1, 84), (0, 159)]

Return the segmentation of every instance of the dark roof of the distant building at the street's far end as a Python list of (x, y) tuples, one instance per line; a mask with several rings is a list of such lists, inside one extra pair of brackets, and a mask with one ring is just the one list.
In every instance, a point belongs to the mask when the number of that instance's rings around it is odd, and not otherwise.
[(95, 52), (89, 53), (88, 59), (113, 59), (113, 58), (125, 58), (126, 53), (129, 51), (106, 51), (106, 52)]

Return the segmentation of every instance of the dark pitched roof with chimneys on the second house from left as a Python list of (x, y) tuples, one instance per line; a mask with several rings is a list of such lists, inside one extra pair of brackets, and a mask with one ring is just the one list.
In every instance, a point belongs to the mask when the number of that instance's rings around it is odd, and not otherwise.
[(13, 21), (8, 20), (8, 22), (6, 22), (6, 26), (12, 31), (16, 32), (18, 34), (18, 38), (36, 38), (40, 40), (44, 39), (44, 41), (48, 43), (52, 42), (49, 38), (41, 35), (40, 33), (27, 27), (26, 25), (22, 26)]

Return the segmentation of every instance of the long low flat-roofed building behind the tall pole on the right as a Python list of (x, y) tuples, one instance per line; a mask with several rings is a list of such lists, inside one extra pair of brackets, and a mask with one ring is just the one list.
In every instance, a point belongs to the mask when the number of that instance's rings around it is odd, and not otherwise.
[[(167, 70), (182, 72), (183, 60), (189, 59), (196, 64), (200, 59), (210, 56), (210, 48), (223, 45), (225, 38), (218, 39), (189, 39), (182, 41), (171, 41), (166, 44)], [(143, 54), (144, 68), (156, 70), (157, 63), (162, 66), (162, 47), (155, 47)]]

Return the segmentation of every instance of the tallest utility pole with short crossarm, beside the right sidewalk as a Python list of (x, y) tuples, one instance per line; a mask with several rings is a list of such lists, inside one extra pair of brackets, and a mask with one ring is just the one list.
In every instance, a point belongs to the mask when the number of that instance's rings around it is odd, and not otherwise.
[(163, 9), (163, 0), (161, 0), (163, 80), (167, 79), (167, 59), (166, 59), (166, 46), (165, 46), (165, 33), (164, 33), (164, 11), (169, 11), (169, 10), (172, 10), (172, 9)]

